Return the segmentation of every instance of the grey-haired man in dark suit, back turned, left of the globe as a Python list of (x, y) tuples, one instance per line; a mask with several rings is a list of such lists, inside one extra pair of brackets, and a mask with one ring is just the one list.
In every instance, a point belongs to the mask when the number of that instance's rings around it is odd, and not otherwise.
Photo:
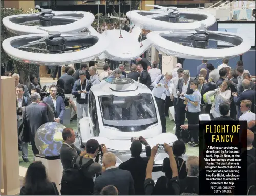
[(29, 132), (29, 141), (31, 142), (34, 155), (39, 153), (38, 149), (35, 146), (35, 133), (41, 125), (49, 122), (49, 119), (47, 116), (47, 108), (44, 106), (38, 105), (38, 103), (40, 102), (40, 99), (41, 99), (41, 96), (39, 95), (39, 93), (31, 94), (31, 98), (30, 98), (31, 104), (23, 108), (23, 111), (22, 111), (23, 120), (27, 122), (29, 127), (29, 130), (24, 130), (24, 131)]

